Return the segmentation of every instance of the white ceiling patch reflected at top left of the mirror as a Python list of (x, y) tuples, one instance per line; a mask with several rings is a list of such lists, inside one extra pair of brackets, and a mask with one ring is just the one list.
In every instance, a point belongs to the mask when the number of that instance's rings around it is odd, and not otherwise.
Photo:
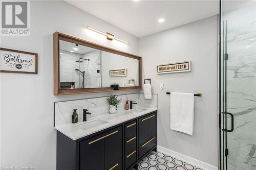
[(84, 55), (86, 53), (95, 51), (95, 48), (90, 48), (79, 44), (76, 46), (75, 43), (59, 40), (59, 50), (68, 53)]

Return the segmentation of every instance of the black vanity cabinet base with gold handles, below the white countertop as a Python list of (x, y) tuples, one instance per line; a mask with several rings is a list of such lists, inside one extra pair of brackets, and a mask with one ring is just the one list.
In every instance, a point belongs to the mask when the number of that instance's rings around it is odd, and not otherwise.
[(57, 131), (57, 170), (127, 170), (157, 150), (157, 112), (72, 140)]

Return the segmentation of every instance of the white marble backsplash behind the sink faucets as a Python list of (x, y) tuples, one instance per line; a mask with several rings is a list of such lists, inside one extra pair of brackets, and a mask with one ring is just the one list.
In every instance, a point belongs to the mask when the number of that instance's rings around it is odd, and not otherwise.
[[(88, 109), (89, 112), (92, 113), (91, 115), (88, 115), (89, 118), (103, 114), (109, 114), (109, 105), (106, 103), (106, 98), (108, 98), (108, 96), (102, 98), (55, 102), (55, 126), (71, 123), (71, 115), (73, 114), (73, 109), (77, 109), (78, 121), (82, 120), (83, 109)], [(118, 110), (124, 110), (125, 102), (127, 100), (133, 100), (138, 103), (135, 106), (158, 108), (157, 94), (153, 94), (152, 99), (150, 100), (144, 99), (143, 93), (118, 95), (118, 99), (120, 99), (120, 103), (118, 104), (117, 108)]]

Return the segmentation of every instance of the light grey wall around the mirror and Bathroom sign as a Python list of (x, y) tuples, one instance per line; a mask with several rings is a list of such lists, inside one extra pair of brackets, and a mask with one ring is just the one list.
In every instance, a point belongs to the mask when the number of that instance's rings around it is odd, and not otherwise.
[[(137, 54), (138, 39), (63, 1), (32, 1), (30, 7), (31, 35), (1, 37), (1, 47), (38, 53), (38, 75), (1, 73), (1, 166), (50, 170), (56, 168), (54, 101), (110, 94), (53, 95), (52, 34), (58, 31), (132, 54)], [(87, 26), (131, 43), (108, 41)]]

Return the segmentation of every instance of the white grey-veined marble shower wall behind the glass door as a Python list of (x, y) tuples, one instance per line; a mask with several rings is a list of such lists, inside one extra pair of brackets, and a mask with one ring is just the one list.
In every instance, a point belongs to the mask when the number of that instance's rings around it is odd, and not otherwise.
[(227, 111), (234, 115), (234, 131), (227, 134), (228, 168), (252, 170), (256, 168), (256, 3), (224, 13), (223, 19), (227, 20)]

